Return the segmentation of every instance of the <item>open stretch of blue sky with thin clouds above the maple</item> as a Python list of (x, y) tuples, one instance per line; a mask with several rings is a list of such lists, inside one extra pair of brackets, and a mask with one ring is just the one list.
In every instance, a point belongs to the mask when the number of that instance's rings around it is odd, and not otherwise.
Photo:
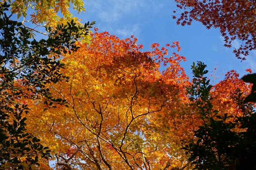
[[(191, 26), (177, 26), (171, 17), (172, 11), (177, 9), (174, 0), (84, 0), (84, 3), (85, 13), (72, 12), (84, 23), (96, 21), (94, 26), (100, 32), (108, 31), (121, 39), (134, 35), (145, 51), (150, 50), (154, 42), (164, 46), (179, 41), (180, 55), (187, 58), (181, 65), (190, 78), (190, 65), (197, 61), (207, 64), (209, 71), (220, 62), (219, 68), (225, 69), (224, 74), (235, 69), (240, 77), (247, 74), (247, 68), (256, 71), (256, 52), (251, 52), (241, 63), (232, 53), (233, 48), (223, 46), (218, 29), (207, 30), (195, 21)], [(239, 42), (234, 42), (233, 46), (238, 47)]]

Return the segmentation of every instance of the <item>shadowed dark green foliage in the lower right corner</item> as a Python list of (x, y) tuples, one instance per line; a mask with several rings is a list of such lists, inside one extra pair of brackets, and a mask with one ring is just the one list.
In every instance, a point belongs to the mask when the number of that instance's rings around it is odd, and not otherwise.
[[(189, 161), (198, 170), (254, 170), (256, 169), (256, 116), (252, 104), (243, 102), (242, 92), (236, 89), (230, 99), (241, 109), (241, 117), (229, 120), (228, 114), (218, 116), (213, 110), (206, 65), (193, 63), (193, 84), (187, 88), (191, 105), (197, 108), (203, 126), (195, 131), (195, 139), (183, 141), (186, 153), (190, 153)], [(234, 131), (241, 127), (244, 130)]]

